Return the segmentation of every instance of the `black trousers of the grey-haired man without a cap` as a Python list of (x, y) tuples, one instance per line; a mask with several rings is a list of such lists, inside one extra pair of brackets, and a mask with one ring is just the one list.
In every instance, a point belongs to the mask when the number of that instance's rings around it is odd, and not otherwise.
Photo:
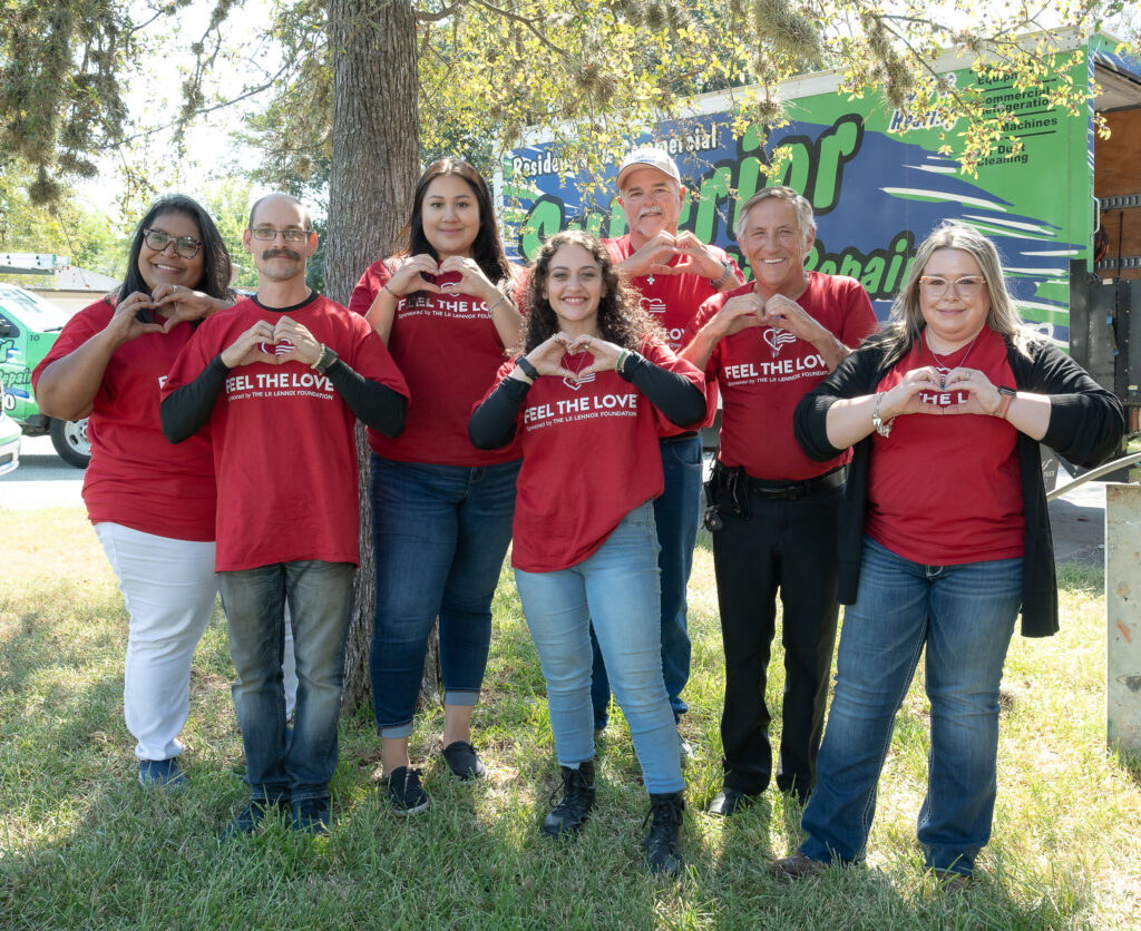
[(783, 606), (785, 689), (777, 787), (808, 798), (836, 635), (836, 505), (842, 488), (796, 501), (751, 495), (748, 520), (722, 511), (713, 534), (725, 710), (721, 743), (725, 785), (763, 792), (772, 772), (771, 718), (764, 702), (776, 598)]

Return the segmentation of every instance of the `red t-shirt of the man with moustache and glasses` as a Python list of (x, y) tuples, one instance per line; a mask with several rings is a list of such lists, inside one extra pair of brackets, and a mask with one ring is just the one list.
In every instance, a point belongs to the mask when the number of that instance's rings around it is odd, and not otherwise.
[[(276, 323), (283, 314), (358, 374), (407, 396), (375, 331), (319, 294), (281, 310), (248, 299), (208, 317), (162, 396), (194, 381), (257, 321)], [(219, 572), (302, 559), (358, 562), (355, 422), (332, 382), (299, 362), (230, 371), (207, 427), (218, 475)]]

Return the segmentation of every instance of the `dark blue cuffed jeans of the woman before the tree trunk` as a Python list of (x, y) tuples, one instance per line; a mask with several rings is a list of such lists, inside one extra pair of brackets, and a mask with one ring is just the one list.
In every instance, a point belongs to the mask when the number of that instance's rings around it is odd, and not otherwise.
[(412, 732), (437, 617), (444, 703), (476, 704), (521, 462), (469, 469), (373, 453), (377, 614), (369, 667), (381, 737)]

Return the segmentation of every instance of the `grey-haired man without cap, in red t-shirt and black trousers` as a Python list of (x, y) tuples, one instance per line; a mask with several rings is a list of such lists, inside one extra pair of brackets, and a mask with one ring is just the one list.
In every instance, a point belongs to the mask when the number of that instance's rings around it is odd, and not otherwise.
[(793, 436), (793, 411), (877, 327), (863, 285), (807, 272), (809, 202), (788, 187), (750, 197), (737, 243), (753, 281), (707, 300), (682, 357), (721, 390), (721, 450), (710, 480), (726, 685), (725, 783), (710, 813), (734, 815), (769, 784), (764, 702), (780, 591), (785, 689), (777, 787), (806, 801), (816, 782), (836, 633), (836, 509), (849, 453), (819, 463)]

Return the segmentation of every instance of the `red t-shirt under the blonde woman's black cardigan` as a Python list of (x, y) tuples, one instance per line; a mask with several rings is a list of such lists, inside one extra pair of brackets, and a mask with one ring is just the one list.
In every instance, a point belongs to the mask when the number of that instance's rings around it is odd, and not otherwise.
[[(1014, 384), (1006, 343), (993, 330), (984, 329), (973, 346), (939, 359), (947, 369), (965, 359), (992, 384)], [(876, 390), (893, 388), (913, 369), (939, 364), (920, 340)], [(958, 391), (926, 398), (941, 407), (966, 399)], [(926, 566), (1022, 556), (1018, 431), (1005, 420), (906, 414), (892, 421), (891, 436), (873, 434), (872, 444), (865, 528), (873, 540)]]

